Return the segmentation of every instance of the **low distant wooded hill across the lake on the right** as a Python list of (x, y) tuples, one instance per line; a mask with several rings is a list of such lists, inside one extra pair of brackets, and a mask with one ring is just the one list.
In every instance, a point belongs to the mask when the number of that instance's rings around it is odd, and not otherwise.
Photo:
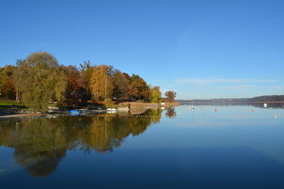
[(214, 99), (194, 99), (194, 100), (177, 100), (182, 104), (188, 103), (279, 103), (284, 102), (284, 95), (273, 96), (256, 96), (253, 98), (214, 98)]

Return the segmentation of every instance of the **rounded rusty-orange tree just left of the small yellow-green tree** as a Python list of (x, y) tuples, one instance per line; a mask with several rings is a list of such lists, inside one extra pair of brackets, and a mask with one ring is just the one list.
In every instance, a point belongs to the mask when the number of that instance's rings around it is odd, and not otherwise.
[(131, 76), (131, 84), (129, 86), (129, 96), (138, 98), (142, 101), (149, 101), (151, 96), (150, 86), (147, 85), (140, 76), (133, 74)]

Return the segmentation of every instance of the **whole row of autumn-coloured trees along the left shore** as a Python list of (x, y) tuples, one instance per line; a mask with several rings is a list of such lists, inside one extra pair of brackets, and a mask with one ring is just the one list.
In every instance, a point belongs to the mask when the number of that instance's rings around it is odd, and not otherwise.
[(16, 66), (0, 69), (1, 98), (23, 101), (33, 110), (45, 111), (50, 102), (80, 106), (87, 101), (175, 101), (174, 91), (161, 98), (159, 86), (151, 87), (136, 74), (131, 76), (108, 65), (87, 61), (80, 67), (59, 64), (48, 52), (33, 52), (17, 59)]

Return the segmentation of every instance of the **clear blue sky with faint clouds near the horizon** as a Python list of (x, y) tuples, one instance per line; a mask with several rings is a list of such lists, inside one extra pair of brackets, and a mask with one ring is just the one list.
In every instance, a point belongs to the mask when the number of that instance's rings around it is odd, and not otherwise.
[(0, 65), (31, 52), (139, 74), (179, 99), (284, 94), (284, 1), (1, 1)]

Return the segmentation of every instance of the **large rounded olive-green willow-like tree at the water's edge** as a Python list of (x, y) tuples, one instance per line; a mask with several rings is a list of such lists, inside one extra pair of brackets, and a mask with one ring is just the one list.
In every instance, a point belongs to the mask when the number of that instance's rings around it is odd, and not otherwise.
[(23, 92), (23, 101), (33, 110), (45, 111), (50, 101), (65, 100), (67, 76), (48, 52), (33, 52), (18, 64), (15, 82)]

